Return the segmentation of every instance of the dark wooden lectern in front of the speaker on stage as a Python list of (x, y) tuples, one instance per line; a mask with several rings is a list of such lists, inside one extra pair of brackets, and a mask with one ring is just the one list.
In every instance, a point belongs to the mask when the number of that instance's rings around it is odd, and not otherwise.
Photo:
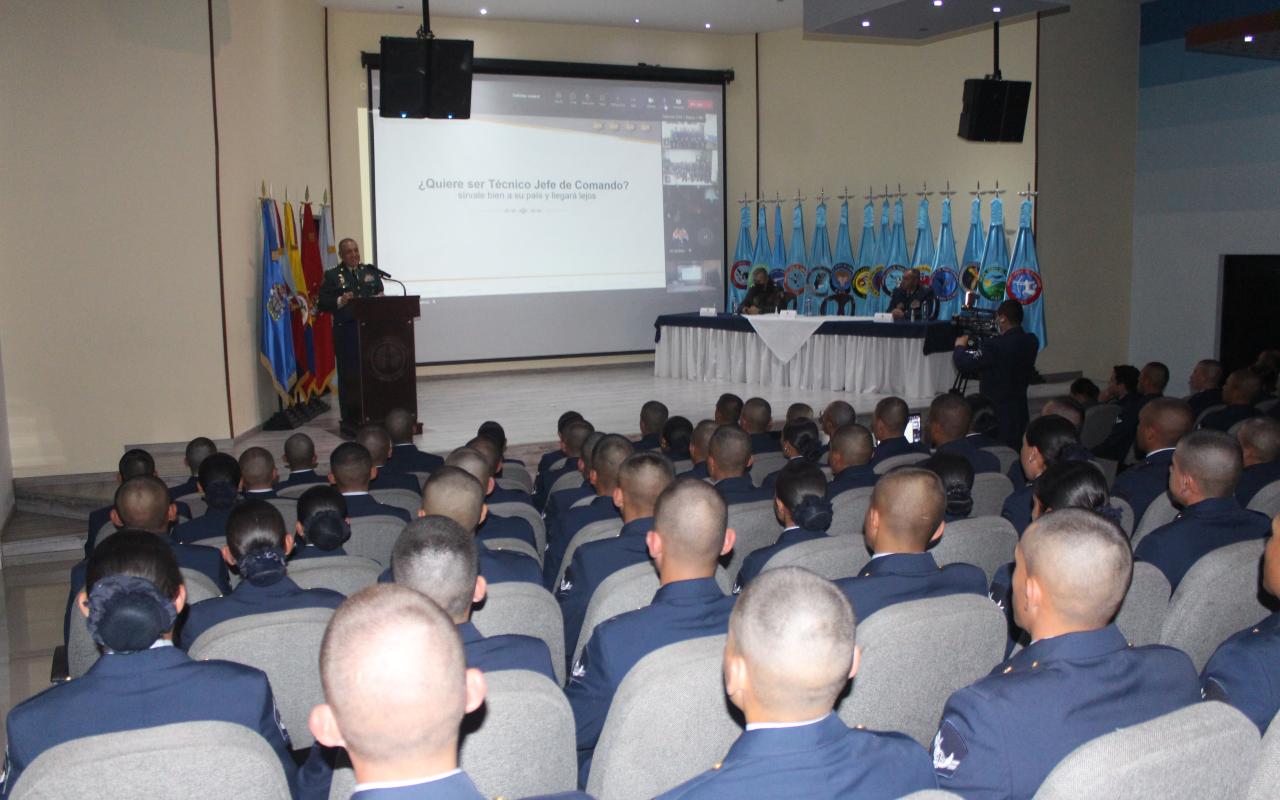
[(419, 296), (357, 297), (333, 315), (342, 433), (355, 435), (392, 408), (417, 415), (413, 319)]

